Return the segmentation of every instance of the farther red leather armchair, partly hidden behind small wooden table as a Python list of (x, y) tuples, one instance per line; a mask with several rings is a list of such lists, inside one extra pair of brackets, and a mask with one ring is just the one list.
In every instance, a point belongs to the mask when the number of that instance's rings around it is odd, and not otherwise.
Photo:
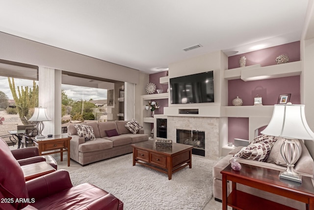
[(54, 158), (51, 155), (39, 156), (38, 148), (36, 147), (11, 150), (11, 152), (15, 159), (17, 159), (20, 166), (46, 161), (55, 170), (57, 170), (57, 162)]

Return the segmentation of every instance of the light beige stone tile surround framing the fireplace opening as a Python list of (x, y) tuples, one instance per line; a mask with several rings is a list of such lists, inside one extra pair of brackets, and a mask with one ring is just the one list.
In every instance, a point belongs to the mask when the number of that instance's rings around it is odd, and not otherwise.
[(205, 157), (218, 160), (219, 118), (168, 116), (167, 138), (177, 139), (177, 129), (205, 131)]

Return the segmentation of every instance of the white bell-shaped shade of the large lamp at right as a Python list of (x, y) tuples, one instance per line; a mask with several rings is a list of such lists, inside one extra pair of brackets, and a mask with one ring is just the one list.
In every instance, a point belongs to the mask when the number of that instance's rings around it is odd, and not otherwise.
[(273, 116), (262, 134), (291, 139), (314, 140), (314, 133), (305, 119), (304, 105), (276, 104)]

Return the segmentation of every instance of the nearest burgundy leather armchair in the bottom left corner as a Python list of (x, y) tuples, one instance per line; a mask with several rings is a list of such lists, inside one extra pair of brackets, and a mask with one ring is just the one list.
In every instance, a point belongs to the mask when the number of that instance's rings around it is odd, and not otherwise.
[(123, 210), (123, 203), (92, 184), (73, 186), (69, 173), (59, 170), (25, 181), (20, 164), (0, 140), (1, 210)]

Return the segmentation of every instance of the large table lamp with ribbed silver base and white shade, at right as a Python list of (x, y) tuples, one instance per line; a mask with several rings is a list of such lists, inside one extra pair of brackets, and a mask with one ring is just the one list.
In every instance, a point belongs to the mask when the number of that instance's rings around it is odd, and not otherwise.
[(314, 133), (305, 119), (304, 105), (276, 104), (273, 116), (262, 134), (282, 137), (285, 139), (281, 145), (280, 153), (287, 163), (287, 170), (280, 173), (279, 178), (301, 183), (301, 176), (294, 171), (294, 164), (301, 152), (296, 139), (314, 140)]

